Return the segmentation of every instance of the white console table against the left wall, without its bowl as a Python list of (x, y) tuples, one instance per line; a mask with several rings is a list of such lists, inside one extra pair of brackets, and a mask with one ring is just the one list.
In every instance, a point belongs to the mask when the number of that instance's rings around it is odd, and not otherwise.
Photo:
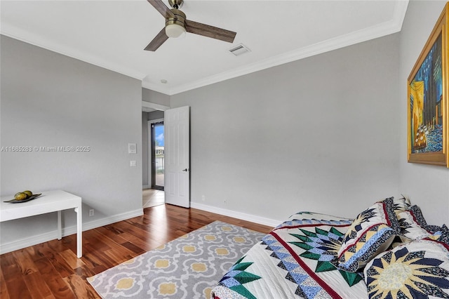
[(40, 197), (24, 203), (4, 202), (13, 198), (13, 195), (1, 197), (0, 222), (58, 212), (58, 240), (62, 239), (61, 211), (74, 208), (76, 212), (76, 256), (81, 258), (83, 255), (81, 197), (62, 190), (55, 190), (42, 192)]

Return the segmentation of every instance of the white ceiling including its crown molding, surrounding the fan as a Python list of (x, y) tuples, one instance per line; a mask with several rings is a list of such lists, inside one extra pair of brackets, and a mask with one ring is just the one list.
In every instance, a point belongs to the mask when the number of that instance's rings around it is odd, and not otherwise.
[[(173, 95), (398, 32), (408, 1), (185, 0), (181, 10), (187, 20), (237, 32), (234, 43), (187, 33), (155, 52), (143, 48), (165, 20), (146, 0), (1, 0), (0, 5), (1, 34)], [(250, 53), (229, 53), (241, 43)]]

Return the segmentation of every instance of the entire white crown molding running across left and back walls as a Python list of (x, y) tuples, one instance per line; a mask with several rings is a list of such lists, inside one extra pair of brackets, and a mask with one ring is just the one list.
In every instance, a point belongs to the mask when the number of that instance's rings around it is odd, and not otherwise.
[(144, 88), (148, 88), (153, 91), (157, 91), (159, 93), (164, 93), (166, 95), (175, 95), (177, 93), (182, 93), (195, 88), (200, 88), (210, 84), (215, 84), (220, 81), (225, 81), (228, 79), (257, 72), (262, 69), (267, 69), (269, 67), (276, 67), (277, 65), (283, 65), (288, 62), (293, 62), (295, 60), (300, 60), (314, 55), (319, 55), (321, 53), (333, 51), (338, 48), (344, 48), (346, 46), (358, 44), (363, 41), (368, 41), (370, 39), (377, 39), (378, 37), (381, 36), (394, 34), (396, 32), (401, 31), (403, 20), (406, 16), (407, 7), (408, 7), (408, 0), (396, 1), (393, 17), (388, 22), (384, 22), (382, 24), (375, 25), (373, 27), (368, 27), (366, 29), (361, 29), (356, 32), (351, 32), (349, 34), (345, 34), (342, 36), (337, 36), (334, 39), (321, 41), (320, 43), (300, 48), (295, 51), (283, 53), (281, 55), (276, 55), (272, 58), (267, 58), (264, 60), (253, 62), (249, 65), (244, 65), (243, 67), (231, 69), (227, 72), (214, 74), (212, 76), (197, 81), (193, 81), (188, 84), (182, 84), (180, 86), (172, 86), (172, 87), (161, 86), (161, 84), (149, 83), (148, 81), (145, 81), (145, 77), (147, 77), (147, 74), (138, 72), (130, 67), (119, 65), (116, 62), (102, 59), (99, 56), (89, 55), (88, 53), (84, 53), (83, 51), (77, 51), (74, 48), (61, 46), (55, 43), (54, 41), (45, 39), (43, 36), (31, 34), (26, 30), (10, 25), (7, 22), (1, 23), (0, 33), (4, 34), (5, 36), (9, 36), (13, 39), (18, 39), (19, 41), (25, 41), (27, 44), (39, 46), (49, 51), (60, 53), (62, 55), (67, 55), (71, 58), (82, 60), (84, 62), (91, 63), (92, 65), (97, 65), (98, 67), (109, 69), (112, 70), (113, 72), (118, 72), (128, 77), (141, 80), (142, 87)]

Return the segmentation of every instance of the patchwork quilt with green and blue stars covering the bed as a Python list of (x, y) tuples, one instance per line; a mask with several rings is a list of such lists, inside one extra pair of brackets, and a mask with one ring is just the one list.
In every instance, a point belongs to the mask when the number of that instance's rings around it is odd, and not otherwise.
[(352, 220), (300, 212), (267, 234), (213, 288), (213, 298), (368, 298), (363, 270), (337, 269)]

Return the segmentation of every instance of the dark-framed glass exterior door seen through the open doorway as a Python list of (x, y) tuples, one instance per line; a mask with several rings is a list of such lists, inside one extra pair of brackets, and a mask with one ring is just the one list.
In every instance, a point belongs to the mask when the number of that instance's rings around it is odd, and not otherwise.
[(151, 126), (152, 189), (163, 190), (165, 174), (163, 121)]

